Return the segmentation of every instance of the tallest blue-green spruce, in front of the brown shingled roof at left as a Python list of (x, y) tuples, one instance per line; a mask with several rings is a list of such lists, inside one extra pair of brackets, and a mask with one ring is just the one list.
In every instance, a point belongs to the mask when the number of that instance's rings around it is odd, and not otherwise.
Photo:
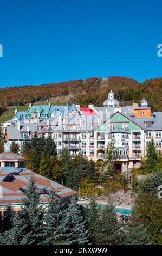
[(27, 228), (26, 234), (30, 233), (33, 245), (39, 245), (44, 239), (43, 207), (40, 205), (40, 196), (35, 185), (33, 176), (29, 180), (25, 197), (22, 198), (23, 206), (21, 217), (24, 218)]

